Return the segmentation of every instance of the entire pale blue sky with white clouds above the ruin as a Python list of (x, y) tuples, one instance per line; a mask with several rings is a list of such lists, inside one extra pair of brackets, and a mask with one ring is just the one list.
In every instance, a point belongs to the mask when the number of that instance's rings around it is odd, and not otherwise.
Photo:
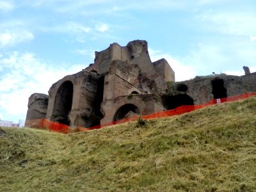
[(147, 40), (177, 81), (256, 71), (254, 0), (0, 0), (0, 118), (26, 118), (28, 97), (93, 63), (117, 42)]

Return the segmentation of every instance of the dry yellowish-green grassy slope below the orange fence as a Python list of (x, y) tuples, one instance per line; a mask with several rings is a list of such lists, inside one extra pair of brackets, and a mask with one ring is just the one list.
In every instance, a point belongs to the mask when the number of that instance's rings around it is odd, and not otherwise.
[(143, 126), (0, 128), (0, 191), (256, 191), (256, 97)]

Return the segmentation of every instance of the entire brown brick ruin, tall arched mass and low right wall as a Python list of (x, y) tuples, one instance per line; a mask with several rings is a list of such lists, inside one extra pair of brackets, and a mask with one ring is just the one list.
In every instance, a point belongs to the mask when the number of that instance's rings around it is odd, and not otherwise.
[(116, 43), (95, 52), (93, 64), (52, 84), (49, 97), (29, 97), (26, 126), (47, 118), (71, 127), (92, 127), (134, 115), (204, 104), (211, 99), (256, 92), (256, 74), (209, 76), (175, 83), (164, 59), (152, 62), (147, 42)]

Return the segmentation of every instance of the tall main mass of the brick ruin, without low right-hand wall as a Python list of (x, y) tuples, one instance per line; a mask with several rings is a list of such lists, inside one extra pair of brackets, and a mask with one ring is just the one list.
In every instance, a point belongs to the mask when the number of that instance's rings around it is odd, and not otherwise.
[[(92, 127), (154, 113), (164, 109), (159, 94), (165, 92), (168, 81), (175, 81), (172, 68), (164, 59), (152, 63), (146, 41), (135, 40), (125, 47), (114, 43), (95, 52), (89, 67), (52, 84), (47, 111), (45, 106), (38, 106), (40, 98), (33, 102), (36, 97), (31, 97), (26, 126), (30, 126), (29, 120), (44, 115), (54, 122)], [(31, 118), (33, 104), (45, 114)]]

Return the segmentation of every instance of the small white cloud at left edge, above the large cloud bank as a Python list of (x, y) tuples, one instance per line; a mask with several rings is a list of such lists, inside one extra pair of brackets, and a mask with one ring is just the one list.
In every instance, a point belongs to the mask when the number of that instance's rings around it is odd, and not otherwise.
[(29, 31), (24, 30), (13, 30), (4, 31), (0, 33), (0, 47), (6, 47), (10, 45), (19, 44), (20, 42), (25, 42), (28, 40), (33, 40), (34, 35)]

